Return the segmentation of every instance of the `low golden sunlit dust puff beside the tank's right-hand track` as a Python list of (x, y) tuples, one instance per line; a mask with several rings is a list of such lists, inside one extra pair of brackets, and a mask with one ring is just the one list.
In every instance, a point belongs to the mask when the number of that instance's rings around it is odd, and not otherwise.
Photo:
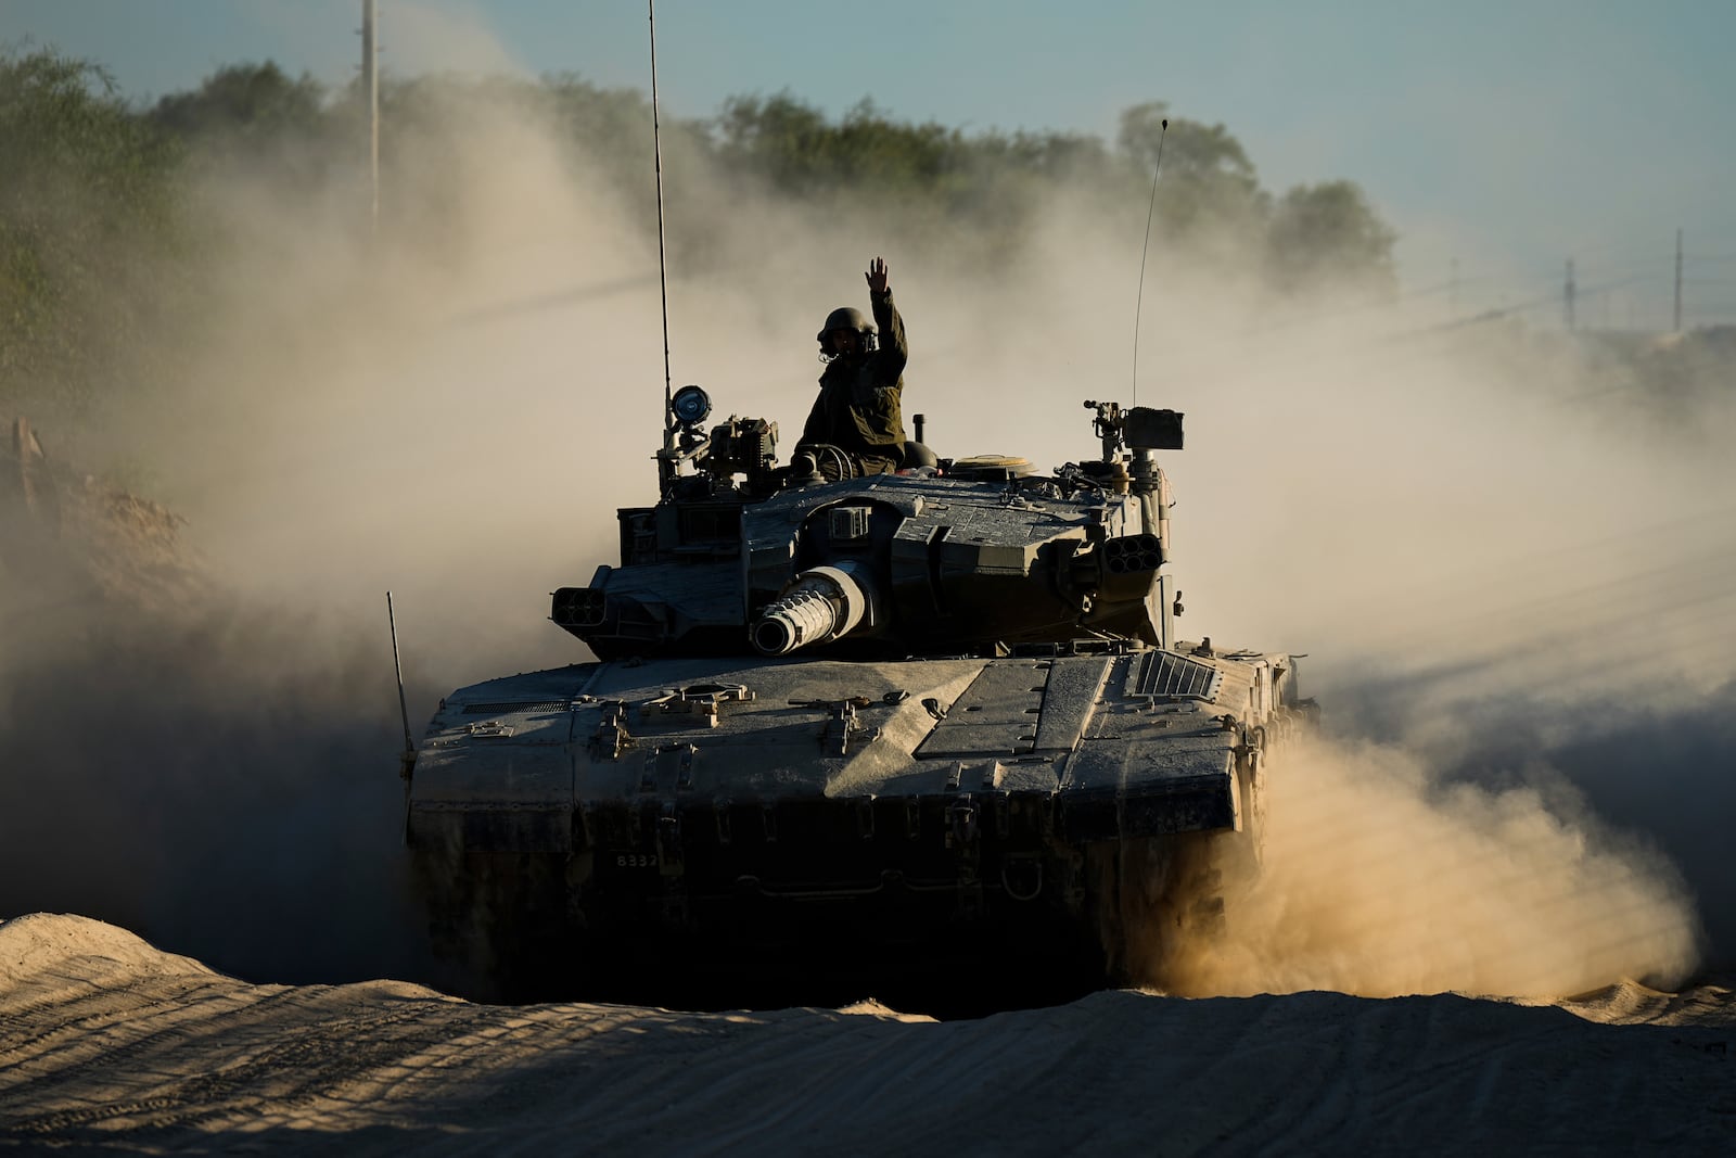
[(1677, 873), (1561, 786), (1450, 783), (1403, 748), (1305, 740), (1271, 774), (1259, 872), (1226, 866), (1222, 922), (1141, 979), (1538, 998), (1680, 984), (1700, 931)]

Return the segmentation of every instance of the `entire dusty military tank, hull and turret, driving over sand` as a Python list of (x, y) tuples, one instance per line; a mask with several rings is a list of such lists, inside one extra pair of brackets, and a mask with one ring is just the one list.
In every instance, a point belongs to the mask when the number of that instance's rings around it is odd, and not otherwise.
[(620, 564), (554, 592), (595, 661), (446, 696), (406, 760), (436, 950), (483, 995), (979, 1012), (1130, 979), (1220, 918), (1286, 655), (1174, 635), (1182, 415), (1101, 450), (856, 476), (668, 401)]

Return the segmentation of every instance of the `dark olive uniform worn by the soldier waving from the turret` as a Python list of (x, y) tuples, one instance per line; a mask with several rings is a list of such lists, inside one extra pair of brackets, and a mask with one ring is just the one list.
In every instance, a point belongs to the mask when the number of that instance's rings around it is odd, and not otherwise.
[(880, 349), (842, 354), (819, 375), (819, 398), (807, 415), (802, 443), (832, 443), (861, 462), (865, 474), (898, 470), (904, 460), (904, 319), (892, 290), (868, 293)]

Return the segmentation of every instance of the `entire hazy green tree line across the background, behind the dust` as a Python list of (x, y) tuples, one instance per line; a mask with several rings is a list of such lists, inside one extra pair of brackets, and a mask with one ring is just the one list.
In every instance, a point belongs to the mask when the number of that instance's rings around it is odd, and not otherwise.
[[(391, 172), (399, 137), (477, 101), (538, 116), (654, 227), (646, 94), (571, 73), (382, 78), (382, 168)], [(703, 165), (736, 189), (944, 231), (984, 262), (1014, 248), (1055, 194), (1144, 219), (1161, 141), (1156, 243), (1231, 247), (1274, 295), (1328, 283), (1396, 290), (1394, 233), (1354, 182), (1271, 193), (1224, 125), (1172, 118), (1161, 102), (1127, 109), (1113, 142), (910, 123), (870, 101), (833, 118), (788, 92), (733, 97), (715, 116), (665, 118), (665, 127), (672, 168)], [(200, 212), (200, 175), (243, 167), (288, 189), (359, 186), (365, 142), (358, 85), (328, 87), (274, 63), (219, 68), (142, 104), (94, 63), (52, 49), (0, 52), (0, 408), (52, 399), (76, 413), (120, 380), (174, 373), (163, 361), (174, 344), (151, 339), (196, 325), (208, 292), (201, 273), (224, 247), (245, 243)], [(670, 189), (677, 205), (710, 193), (707, 182)], [(387, 182), (382, 196), (399, 194)], [(703, 264), (701, 240), (672, 227), (672, 245)]]

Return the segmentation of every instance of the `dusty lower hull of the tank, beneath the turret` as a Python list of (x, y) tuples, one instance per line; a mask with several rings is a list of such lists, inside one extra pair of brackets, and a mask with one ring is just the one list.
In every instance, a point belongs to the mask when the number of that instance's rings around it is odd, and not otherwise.
[[(429, 726), (406, 839), (481, 993), (1061, 998), (1127, 977), (1130, 922), (1201, 842), (1257, 849), (1292, 668), (1180, 646), (496, 679)], [(1014, 1000), (983, 979), (1007, 960)]]

